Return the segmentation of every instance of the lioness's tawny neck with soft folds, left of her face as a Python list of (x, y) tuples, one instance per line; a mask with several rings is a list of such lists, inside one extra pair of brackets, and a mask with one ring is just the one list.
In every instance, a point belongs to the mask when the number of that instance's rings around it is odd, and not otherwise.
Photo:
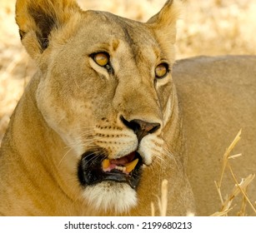
[[(35, 100), (38, 82), (39, 78), (36, 76), (28, 84), (27, 92), (18, 102), (9, 129), (3, 139), (1, 152), (4, 154), (3, 159), (7, 160), (5, 163), (9, 164), (7, 171), (9, 176), (5, 178), (10, 182), (12, 180), (18, 183), (25, 182), (31, 187), (31, 190), (28, 189), (28, 193), (23, 194), (25, 201), (23, 197), (19, 196), (18, 198), (26, 202), (25, 196), (28, 196), (28, 199), (33, 196), (34, 204), (37, 205), (36, 209), (40, 210), (41, 208), (42, 210), (37, 213), (38, 216), (67, 215), (59, 210), (68, 211), (68, 215), (79, 216), (82, 213), (77, 210), (83, 208), (78, 200), (80, 189), (77, 177), (74, 175), (77, 161), (69, 160), (68, 165), (67, 161), (63, 159), (63, 157), (68, 159), (68, 156), (72, 156), (70, 155), (72, 151), (68, 154), (63, 140), (53, 129), (48, 127), (38, 110)], [(72, 161), (73, 164), (70, 164)], [(15, 194), (13, 195), (13, 198), (17, 198)], [(38, 200), (37, 196), (44, 196), (47, 202)], [(49, 203), (49, 200), (56, 198), (58, 201)], [(74, 204), (74, 201), (77, 204)], [(63, 206), (65, 207), (63, 208)], [(26, 210), (26, 208), (22, 209)], [(27, 215), (28, 213), (19, 212), (19, 214)]]

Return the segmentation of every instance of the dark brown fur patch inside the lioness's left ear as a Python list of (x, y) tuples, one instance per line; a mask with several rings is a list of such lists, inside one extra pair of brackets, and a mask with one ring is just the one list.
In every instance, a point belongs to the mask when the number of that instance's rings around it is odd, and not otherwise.
[[(36, 32), (38, 42), (40, 43), (42, 50), (45, 50), (49, 44), (50, 33), (52, 32), (53, 27), (57, 26), (56, 17), (44, 12), (41, 7), (29, 7), (28, 12), (33, 17), (38, 27)], [(21, 34), (21, 36), (23, 35)]]

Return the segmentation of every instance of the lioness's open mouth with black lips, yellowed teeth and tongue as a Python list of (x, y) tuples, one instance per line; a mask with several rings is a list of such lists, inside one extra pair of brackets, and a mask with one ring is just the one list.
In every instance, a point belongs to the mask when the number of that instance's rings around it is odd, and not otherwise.
[(83, 186), (102, 181), (128, 183), (136, 189), (142, 173), (143, 160), (137, 151), (109, 160), (94, 151), (85, 152), (78, 164), (78, 178)]

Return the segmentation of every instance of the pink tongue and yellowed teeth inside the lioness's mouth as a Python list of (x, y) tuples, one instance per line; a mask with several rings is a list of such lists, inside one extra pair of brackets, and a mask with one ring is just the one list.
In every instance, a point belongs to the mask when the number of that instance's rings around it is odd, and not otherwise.
[(124, 173), (130, 173), (133, 171), (135, 166), (138, 164), (138, 158), (127, 162), (126, 159), (119, 159), (119, 160), (103, 160), (102, 166), (103, 171), (112, 171), (113, 169), (118, 169), (120, 171), (123, 171)]

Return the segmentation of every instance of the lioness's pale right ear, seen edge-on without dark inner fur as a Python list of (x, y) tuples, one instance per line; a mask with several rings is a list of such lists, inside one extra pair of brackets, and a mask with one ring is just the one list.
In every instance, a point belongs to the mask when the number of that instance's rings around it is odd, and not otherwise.
[(146, 22), (153, 29), (160, 42), (172, 44), (176, 42), (176, 22), (180, 14), (181, 4), (180, 0), (168, 0), (161, 11)]

